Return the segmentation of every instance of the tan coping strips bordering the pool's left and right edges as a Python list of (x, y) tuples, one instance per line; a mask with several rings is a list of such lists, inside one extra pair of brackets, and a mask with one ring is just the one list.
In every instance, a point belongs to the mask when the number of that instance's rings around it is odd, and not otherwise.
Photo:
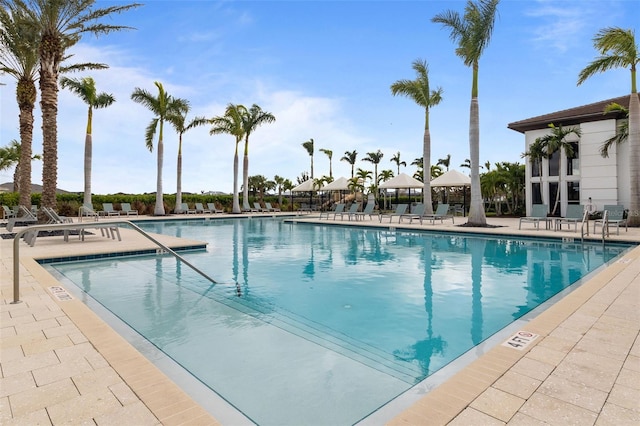
[[(322, 223), (325, 224), (327, 222)], [(465, 232), (466, 229), (468, 228), (461, 228), (456, 232), (464, 234), (467, 233)], [(405, 229), (403, 227), (403, 230), (411, 231), (414, 228)], [(441, 231), (441, 229), (438, 229), (438, 231)], [(515, 237), (522, 236), (518, 233), (501, 234)], [(489, 234), (488, 236), (495, 235)], [(538, 235), (533, 234), (531, 236)], [(633, 240), (632, 242), (637, 243), (638, 241)], [(446, 424), (469, 410), (480, 412), (477, 407), (472, 407), (474, 401), (477, 401), (483, 394), (493, 389), (492, 385), (523, 359), (526, 359), (533, 349), (541, 345), (545, 339), (549, 336), (553, 337), (554, 330), (557, 330), (558, 327), (578, 312), (594, 295), (605, 289), (616, 277), (623, 274), (628, 268), (638, 268), (640, 247), (630, 250), (625, 254), (624, 259), (625, 262), (614, 262), (598, 272), (580, 287), (571, 291), (567, 296), (529, 321), (526, 325), (526, 330), (539, 334), (540, 338), (525, 351), (515, 351), (501, 345), (494, 346), (476, 361), (455, 374), (454, 377), (430, 390), (417, 403), (392, 419), (389, 424), (415, 424), (416, 422)], [(27, 253), (23, 252), (21, 263), (28, 274), (34, 278), (35, 282), (42, 286), (45, 293), (48, 285), (52, 283), (60, 284)], [(6, 295), (3, 294), (3, 296)], [(171, 382), (164, 373), (158, 370), (124, 338), (108, 327), (84, 303), (77, 299), (62, 302), (52, 297), (52, 300), (85, 334), (92, 345), (114, 367), (160, 422), (163, 424), (188, 424), (190, 421), (194, 421), (194, 424), (219, 424), (217, 420), (196, 403), (189, 403), (191, 399), (177, 385)], [(636, 345), (634, 353), (639, 352), (637, 347), (638, 345)], [(170, 395), (170, 399), (162, 397), (165, 394)], [(181, 409), (182, 407), (188, 408)], [(171, 415), (167, 415), (168, 412)], [(195, 414), (195, 417), (193, 414)], [(177, 422), (177, 420), (180, 421)], [(367, 424), (366, 419), (363, 424)]]

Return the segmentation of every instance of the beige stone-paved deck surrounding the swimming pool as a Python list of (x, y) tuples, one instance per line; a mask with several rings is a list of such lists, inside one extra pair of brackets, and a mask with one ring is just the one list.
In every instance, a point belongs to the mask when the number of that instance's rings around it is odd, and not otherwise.
[[(194, 217), (202, 215), (171, 218)], [(319, 222), (316, 215), (292, 220)], [(556, 232), (526, 223), (518, 230), (518, 219), (510, 218), (487, 220), (499, 228), (457, 227), (451, 221), (398, 224), (397, 218), (381, 224), (376, 217), (321, 222), (580, 239), (579, 227), (577, 233)], [(212, 416), (194, 402), (34, 260), (154, 248), (132, 230), (120, 232), (122, 241), (94, 231), (85, 241), (70, 237), (65, 243), (62, 237), (45, 237), (35, 247), (21, 243), (18, 304), (11, 303), (13, 240), (0, 240), (0, 424), (221, 424), (215, 413)], [(172, 248), (197, 243), (157, 238)], [(614, 229), (609, 240), (640, 242), (640, 229), (621, 229), (620, 235)], [(640, 246), (602, 268), (522, 330), (539, 337), (523, 350), (502, 344), (489, 348), (384, 422), (640, 424)], [(363, 423), (376, 424), (372, 419)]]

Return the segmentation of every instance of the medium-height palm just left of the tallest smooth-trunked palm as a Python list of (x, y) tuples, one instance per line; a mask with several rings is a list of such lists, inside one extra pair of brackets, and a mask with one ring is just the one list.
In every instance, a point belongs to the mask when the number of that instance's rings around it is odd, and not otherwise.
[[(431, 166), (431, 132), (429, 131), (429, 109), (442, 101), (442, 88), (431, 90), (429, 86), (429, 68), (426, 61), (416, 60), (412, 65), (417, 77), (415, 80), (398, 80), (391, 85), (393, 95), (407, 96), (424, 108), (424, 135), (422, 137), (423, 170)], [(431, 202), (431, 182), (424, 179), (424, 204), (425, 213), (433, 214)]]

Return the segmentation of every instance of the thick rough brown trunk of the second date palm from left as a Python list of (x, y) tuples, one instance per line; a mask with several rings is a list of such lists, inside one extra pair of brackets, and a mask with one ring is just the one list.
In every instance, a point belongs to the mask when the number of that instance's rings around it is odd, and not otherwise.
[(40, 109), (42, 111), (43, 207), (56, 208), (58, 182), (58, 72), (55, 53), (44, 52), (40, 61)]

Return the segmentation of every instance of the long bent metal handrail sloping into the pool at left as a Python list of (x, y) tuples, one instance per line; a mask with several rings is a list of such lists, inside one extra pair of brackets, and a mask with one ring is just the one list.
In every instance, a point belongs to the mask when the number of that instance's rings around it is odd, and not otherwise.
[(207, 280), (211, 281), (213, 284), (219, 284), (213, 278), (202, 272), (200, 269), (193, 266), (186, 259), (180, 256), (178, 253), (162, 244), (160, 241), (153, 238), (151, 235), (147, 234), (140, 227), (135, 225), (134, 223), (128, 220), (111, 220), (111, 221), (101, 221), (100, 223), (92, 222), (92, 223), (56, 223), (50, 225), (32, 225), (27, 228), (16, 233), (15, 237), (13, 237), (13, 302), (11, 303), (20, 303), (20, 237), (29, 233), (35, 232), (37, 233), (40, 230), (43, 231), (58, 231), (64, 229), (84, 229), (84, 228), (102, 228), (108, 226), (119, 226), (119, 225), (127, 225), (130, 226), (134, 231), (137, 231), (139, 234), (142, 234), (145, 238), (153, 242), (155, 245), (165, 250), (167, 253), (171, 254), (176, 259), (183, 262), (185, 265), (189, 266), (191, 269), (202, 275)]

